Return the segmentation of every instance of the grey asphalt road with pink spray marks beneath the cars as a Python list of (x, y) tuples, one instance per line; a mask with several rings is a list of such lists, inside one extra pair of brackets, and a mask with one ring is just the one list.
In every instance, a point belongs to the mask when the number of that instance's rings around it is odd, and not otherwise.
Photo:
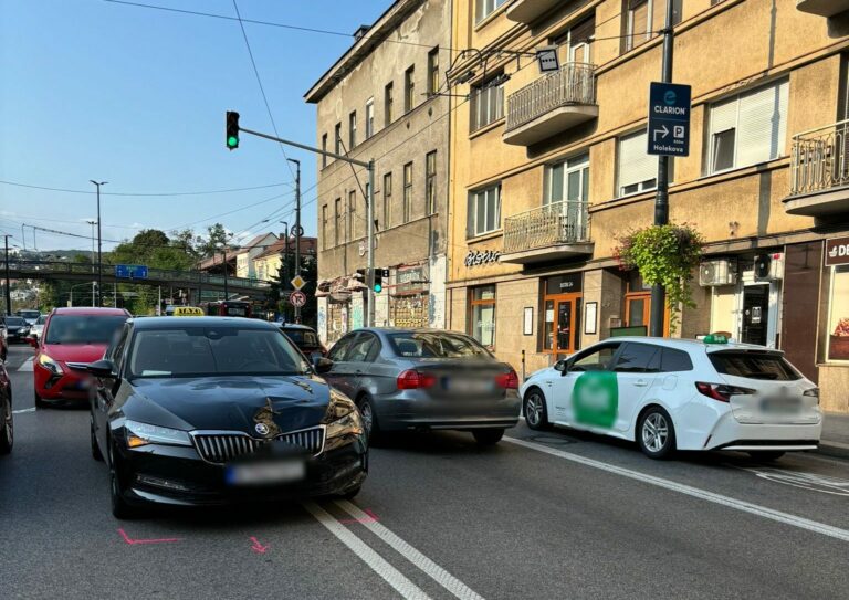
[(773, 465), (524, 424), (374, 449), (353, 503), (118, 522), (84, 409), (32, 410), (13, 347), (0, 598), (849, 598), (849, 462)]

